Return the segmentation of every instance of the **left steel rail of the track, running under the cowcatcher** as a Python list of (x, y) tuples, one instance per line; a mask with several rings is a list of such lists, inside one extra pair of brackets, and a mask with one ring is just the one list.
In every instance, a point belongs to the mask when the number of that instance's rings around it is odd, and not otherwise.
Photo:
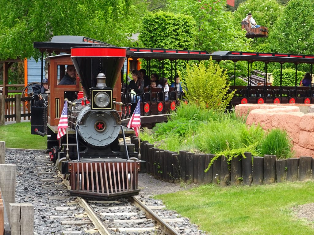
[[(62, 177), (63, 179), (63, 177)], [(68, 187), (68, 189), (71, 189), (71, 186), (69, 185), (68, 180), (63, 179), (64, 184)], [(111, 232), (108, 230), (108, 228), (105, 226), (105, 224), (100, 220), (100, 218), (97, 216), (97, 214), (93, 211), (93, 209), (88, 205), (87, 201), (85, 201), (81, 197), (76, 197), (78, 200), (78, 204), (85, 209), (87, 212), (87, 216), (92, 221), (92, 223), (97, 227), (98, 232), (100, 235), (111, 235)]]

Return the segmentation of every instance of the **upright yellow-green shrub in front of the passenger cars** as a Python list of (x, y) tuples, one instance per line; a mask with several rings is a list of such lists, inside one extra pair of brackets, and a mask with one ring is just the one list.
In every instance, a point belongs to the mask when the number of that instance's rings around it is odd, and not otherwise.
[(228, 93), (228, 76), (212, 59), (207, 66), (204, 62), (188, 65), (183, 77), (187, 87), (187, 99), (203, 109), (225, 110), (235, 93)]

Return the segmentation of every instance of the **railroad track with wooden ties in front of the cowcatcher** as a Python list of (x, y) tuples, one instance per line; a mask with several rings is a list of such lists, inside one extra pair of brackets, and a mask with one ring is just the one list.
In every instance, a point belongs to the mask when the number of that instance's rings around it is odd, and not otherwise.
[(47, 162), (47, 159), (37, 159), (37, 162), (46, 163), (46, 166), (42, 167), (46, 170), (38, 174), (44, 176), (44, 179), (41, 179), (43, 188), (49, 190), (56, 187), (62, 193), (61, 196), (48, 196), (48, 199), (59, 199), (61, 202), (51, 204), (54, 207), (52, 210), (62, 214), (51, 216), (51, 219), (60, 220), (60, 226), (63, 226), (62, 234), (189, 234), (182, 232), (181, 226), (182, 223), (188, 222), (187, 220), (177, 218), (175, 213), (171, 216), (163, 215), (165, 206), (161, 205), (161, 202), (156, 204), (149, 196), (130, 196), (116, 201), (70, 197), (67, 193), (70, 188), (68, 180), (63, 179), (60, 172), (56, 176), (56, 171), (48, 168), (51, 166), (53, 169), (53, 163)]

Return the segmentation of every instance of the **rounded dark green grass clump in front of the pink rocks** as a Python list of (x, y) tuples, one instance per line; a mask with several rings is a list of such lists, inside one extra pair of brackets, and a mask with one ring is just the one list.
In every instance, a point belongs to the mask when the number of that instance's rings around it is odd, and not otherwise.
[(259, 153), (276, 155), (277, 159), (285, 159), (294, 156), (292, 142), (285, 130), (275, 128), (263, 138), (258, 146)]

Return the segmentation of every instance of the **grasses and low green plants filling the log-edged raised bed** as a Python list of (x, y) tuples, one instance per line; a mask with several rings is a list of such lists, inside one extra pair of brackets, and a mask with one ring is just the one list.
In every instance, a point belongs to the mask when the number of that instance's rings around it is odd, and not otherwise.
[(292, 155), (291, 140), (284, 131), (265, 134), (259, 125), (247, 127), (234, 112), (202, 109), (191, 102), (181, 104), (167, 123), (157, 124), (151, 132), (147, 130), (141, 139), (160, 149), (215, 154), (210, 164), (218, 156), (231, 160), (245, 152), (255, 156), (277, 154), (279, 158)]

